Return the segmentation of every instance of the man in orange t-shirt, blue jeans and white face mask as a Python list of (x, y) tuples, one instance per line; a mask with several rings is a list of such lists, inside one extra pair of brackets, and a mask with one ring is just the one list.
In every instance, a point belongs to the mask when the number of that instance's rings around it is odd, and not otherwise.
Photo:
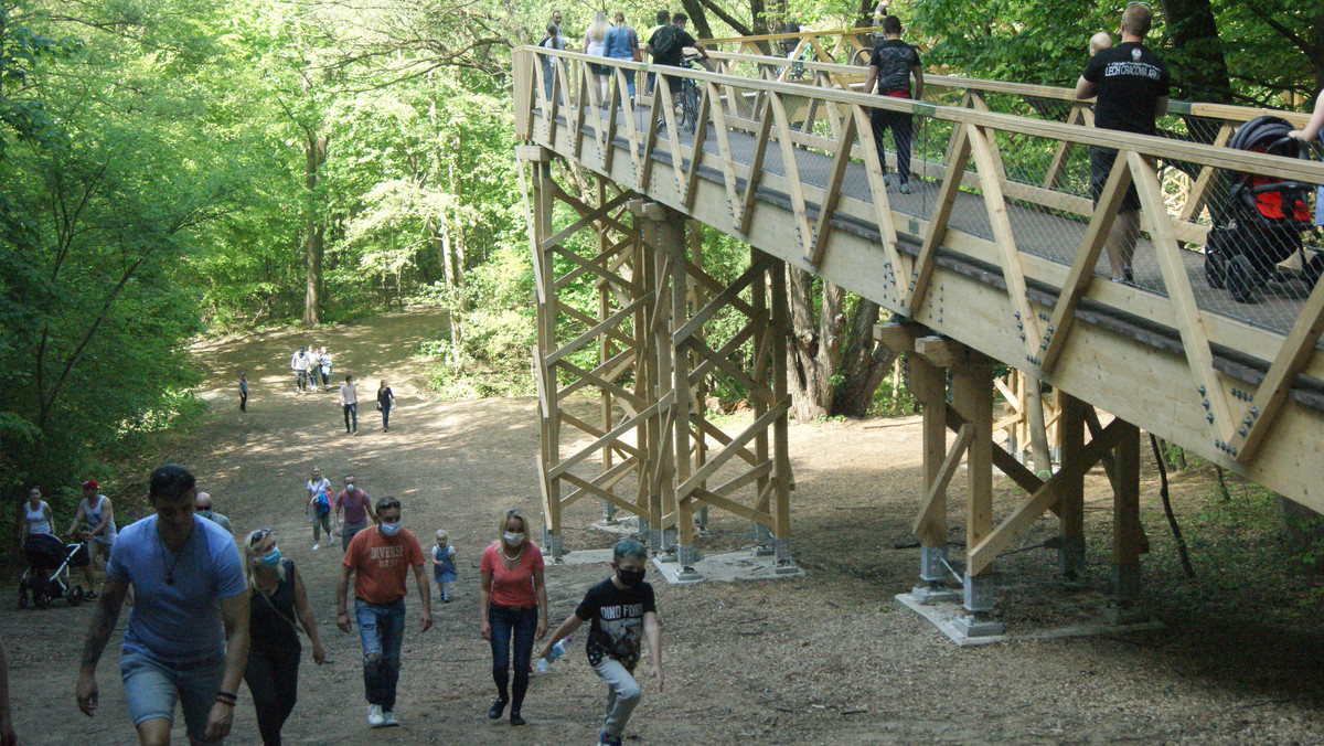
[(422, 599), (420, 632), (432, 627), (432, 600), (422, 572), (422, 547), (412, 531), (400, 527), (400, 501), (377, 501), (379, 523), (354, 535), (344, 550), (336, 583), (335, 625), (350, 631), (346, 595), (354, 578), (354, 613), (363, 643), (363, 689), (368, 698), (368, 725), (400, 725), (396, 719), (396, 684), (400, 681), (400, 644), (405, 633), (405, 578), (413, 567)]

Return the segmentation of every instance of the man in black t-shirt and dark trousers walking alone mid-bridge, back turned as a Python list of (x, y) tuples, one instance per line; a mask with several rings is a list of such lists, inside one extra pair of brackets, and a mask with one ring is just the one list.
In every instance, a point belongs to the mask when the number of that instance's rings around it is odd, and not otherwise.
[[(900, 19), (896, 16), (883, 19), (883, 41), (874, 46), (874, 54), (869, 60), (865, 93), (874, 93), (876, 89), (880, 95), (892, 98), (922, 98), (924, 95), (924, 70), (919, 64), (919, 52), (902, 41)], [(914, 95), (910, 86), (911, 78), (915, 78)], [(874, 126), (874, 147), (878, 148), (878, 160), (883, 167), (884, 178), (887, 175), (887, 155), (883, 151), (883, 131), (891, 129), (892, 140), (896, 144), (896, 176), (900, 180), (902, 193), (908, 195), (911, 114), (874, 109), (869, 113), (869, 121)]]

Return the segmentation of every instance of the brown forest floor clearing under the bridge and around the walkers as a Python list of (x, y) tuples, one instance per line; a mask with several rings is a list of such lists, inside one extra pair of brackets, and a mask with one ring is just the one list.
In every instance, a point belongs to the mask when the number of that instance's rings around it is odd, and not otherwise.
[[(436, 401), (426, 396), (417, 343), (442, 327), (436, 314), (404, 313), (319, 331), (281, 331), (197, 346), (208, 382), (208, 413), (172, 440), (160, 461), (188, 465), (237, 531), (270, 526), (305, 574), (328, 661), (314, 666), (305, 649), (299, 704), (285, 727), (287, 743), (591, 743), (604, 690), (576, 651), (534, 678), (512, 729), (490, 722), (490, 655), (477, 629), (478, 559), (499, 514), (522, 507), (538, 521), (534, 456), (538, 421), (531, 399)], [(344, 436), (335, 388), (294, 392), (289, 356), (301, 343), (326, 345), (336, 375), (360, 378), (372, 400), (387, 378), (400, 399), (383, 433), (371, 404), (360, 435)], [(249, 412), (240, 413), (234, 382), (249, 374)], [(592, 411), (592, 401), (583, 401)], [(1055, 554), (1026, 551), (1000, 559), (998, 613), (1012, 639), (957, 648), (927, 621), (898, 608), (916, 549), (907, 538), (919, 502), (918, 420), (793, 425), (790, 454), (794, 557), (798, 579), (669, 586), (657, 572), (663, 623), (666, 690), (643, 676), (643, 700), (629, 739), (650, 743), (1317, 743), (1324, 738), (1324, 645), (1319, 619), (1299, 611), (1319, 588), (1284, 580), (1280, 551), (1263, 530), (1210, 497), (1207, 468), (1174, 476), (1173, 500), (1186, 522), (1197, 578), (1185, 579), (1172, 551), (1157, 476), (1145, 452), (1143, 519), (1153, 553), (1145, 558), (1144, 603), (1165, 628), (1059, 640), (1030, 633), (1090, 617), (1108, 579), (1111, 501), (1095, 470), (1087, 486), (1088, 571), (1084, 592), (1055, 586)], [(405, 526), (432, 545), (450, 531), (459, 564), (449, 604), (434, 603), (436, 625), (417, 629), (410, 590), (399, 729), (369, 731), (361, 698), (357, 635), (334, 625), (339, 542), (311, 551), (302, 485), (314, 465), (339, 484), (354, 472), (372, 497), (399, 496)], [(144, 476), (146, 478), (146, 476)], [(964, 494), (957, 474), (952, 494)], [(1018, 500), (997, 480), (998, 515)], [(1234, 488), (1234, 502), (1251, 493)], [(138, 494), (113, 494), (117, 517), (143, 513)], [(617, 538), (593, 527), (596, 502), (567, 517), (568, 549), (609, 547)], [(953, 523), (961, 500), (953, 500)], [(1213, 507), (1211, 507), (1213, 506)], [(1247, 509), (1249, 510), (1249, 509)], [(1263, 511), (1262, 511), (1263, 513)], [(66, 521), (68, 517), (58, 517)], [(1259, 526), (1259, 527), (1256, 527)], [(749, 542), (749, 525), (714, 515), (704, 551)], [(1055, 533), (1041, 519), (1019, 541)], [(953, 530), (953, 541), (964, 537)], [(959, 555), (953, 550), (953, 555)], [(552, 624), (571, 613), (605, 566), (547, 570)], [(430, 575), (430, 574), (429, 574)], [(410, 583), (412, 588), (412, 583)], [(8, 591), (7, 591), (8, 592)], [(12, 596), (9, 596), (12, 598)], [(1084, 599), (1084, 600), (1082, 600)], [(20, 743), (136, 742), (119, 684), (120, 619), (99, 669), (102, 706), (86, 718), (74, 705), (78, 652), (93, 610), (57, 603), (46, 611), (0, 608), (11, 657), (11, 696)], [(181, 718), (175, 729), (183, 738)], [(232, 743), (257, 743), (252, 701), (240, 693)]]

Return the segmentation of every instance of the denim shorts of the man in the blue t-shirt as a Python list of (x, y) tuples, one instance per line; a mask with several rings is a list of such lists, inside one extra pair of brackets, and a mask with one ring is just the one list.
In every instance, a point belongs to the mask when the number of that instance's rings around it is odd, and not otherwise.
[(189, 738), (204, 741), (207, 717), (225, 674), (225, 657), (169, 664), (124, 651), (119, 659), (119, 674), (124, 680), (124, 700), (135, 726), (156, 718), (173, 722), (175, 702), (179, 702)]

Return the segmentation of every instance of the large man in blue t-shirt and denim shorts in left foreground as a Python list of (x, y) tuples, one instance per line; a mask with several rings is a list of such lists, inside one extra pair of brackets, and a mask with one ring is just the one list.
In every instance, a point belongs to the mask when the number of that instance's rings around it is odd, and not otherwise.
[(147, 497), (155, 515), (119, 533), (79, 665), (78, 708), (90, 717), (98, 704), (97, 663), (132, 586), (119, 672), (143, 743), (169, 743), (176, 702), (192, 742), (221, 742), (248, 663), (244, 566), (234, 539), (193, 514), (196, 496), (183, 466), (152, 472)]

